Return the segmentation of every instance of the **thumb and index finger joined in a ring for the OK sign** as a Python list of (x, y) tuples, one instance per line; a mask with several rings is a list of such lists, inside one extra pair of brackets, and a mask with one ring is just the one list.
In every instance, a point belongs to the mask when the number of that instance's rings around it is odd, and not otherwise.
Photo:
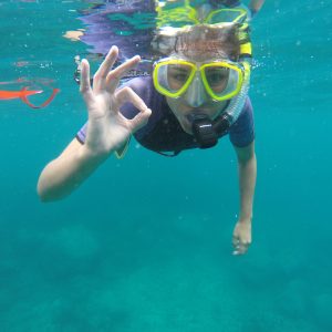
[(146, 125), (152, 111), (147, 108), (144, 101), (129, 87), (123, 87), (116, 92), (116, 101), (118, 105), (123, 105), (125, 102), (132, 103), (139, 113), (132, 120), (127, 120), (129, 129), (135, 133), (141, 127)]

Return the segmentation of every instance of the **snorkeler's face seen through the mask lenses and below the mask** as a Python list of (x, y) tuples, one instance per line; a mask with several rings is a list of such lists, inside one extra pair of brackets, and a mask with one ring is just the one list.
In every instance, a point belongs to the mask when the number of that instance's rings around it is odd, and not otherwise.
[[(200, 64), (203, 58), (201, 56), (193, 56), (189, 59), (186, 56), (186, 60), (194, 62), (196, 64)], [(204, 62), (212, 61), (204, 60)], [(189, 72), (189, 70), (188, 70)], [(168, 82), (169, 87), (173, 90), (178, 90), (184, 82), (188, 79), (188, 72), (181, 68), (173, 66), (168, 71)], [(228, 74), (225, 73), (222, 70), (214, 71), (214, 72), (206, 72), (207, 81), (209, 85), (216, 91), (222, 91), (227, 84)], [(225, 77), (225, 80), (224, 80)], [(191, 114), (203, 114), (208, 116), (210, 120), (215, 120), (221, 111), (227, 105), (227, 101), (217, 102), (209, 96), (205, 90), (205, 86), (201, 82), (200, 73), (196, 72), (193, 82), (190, 83), (188, 90), (185, 92), (184, 95), (173, 98), (167, 96), (166, 101), (180, 123), (183, 129), (188, 133), (193, 134), (191, 132), (191, 122), (189, 121), (189, 115)]]

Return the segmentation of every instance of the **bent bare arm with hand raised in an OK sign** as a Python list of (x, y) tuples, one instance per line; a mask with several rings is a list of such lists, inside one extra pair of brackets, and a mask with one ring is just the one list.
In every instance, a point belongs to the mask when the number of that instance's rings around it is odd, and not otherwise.
[[(63, 198), (77, 188), (113, 152), (120, 151), (131, 135), (147, 123), (151, 110), (129, 87), (117, 89), (121, 77), (139, 61), (134, 56), (111, 70), (118, 54), (112, 48), (90, 83), (89, 62), (82, 61), (81, 93), (87, 108), (84, 145), (74, 139), (64, 152), (41, 173), (38, 194), (43, 201)], [(120, 113), (131, 102), (139, 113), (132, 120)]]

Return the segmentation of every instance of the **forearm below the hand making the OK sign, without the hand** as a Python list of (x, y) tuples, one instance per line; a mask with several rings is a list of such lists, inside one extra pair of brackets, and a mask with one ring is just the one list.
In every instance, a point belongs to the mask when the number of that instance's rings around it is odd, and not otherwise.
[(52, 201), (70, 195), (104, 160), (106, 156), (94, 156), (82, 145), (71, 154), (59, 156), (45, 166), (38, 181), (38, 194), (42, 201)]

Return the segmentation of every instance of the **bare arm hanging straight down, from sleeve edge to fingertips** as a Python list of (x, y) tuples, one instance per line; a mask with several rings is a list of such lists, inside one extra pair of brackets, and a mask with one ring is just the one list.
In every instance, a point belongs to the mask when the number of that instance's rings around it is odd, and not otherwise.
[(236, 147), (239, 167), (240, 214), (234, 230), (235, 255), (246, 253), (251, 243), (251, 218), (257, 176), (255, 143)]

